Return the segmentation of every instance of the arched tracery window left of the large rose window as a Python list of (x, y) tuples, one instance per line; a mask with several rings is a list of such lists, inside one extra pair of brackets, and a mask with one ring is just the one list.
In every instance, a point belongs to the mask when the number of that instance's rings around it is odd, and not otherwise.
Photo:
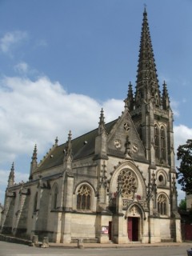
[(91, 198), (90, 188), (86, 185), (81, 186), (78, 189), (77, 209), (90, 210), (90, 198)]

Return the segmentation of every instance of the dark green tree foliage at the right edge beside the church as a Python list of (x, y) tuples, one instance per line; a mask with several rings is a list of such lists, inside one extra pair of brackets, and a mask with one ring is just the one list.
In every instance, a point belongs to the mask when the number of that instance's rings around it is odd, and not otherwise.
[(186, 194), (192, 194), (192, 139), (186, 144), (178, 146), (178, 160), (181, 160), (178, 169), (178, 184)]

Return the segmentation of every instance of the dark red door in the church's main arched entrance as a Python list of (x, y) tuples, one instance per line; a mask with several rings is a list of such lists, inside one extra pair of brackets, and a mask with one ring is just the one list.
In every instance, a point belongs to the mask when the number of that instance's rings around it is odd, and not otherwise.
[(138, 226), (140, 218), (128, 217), (127, 233), (130, 241), (138, 241)]

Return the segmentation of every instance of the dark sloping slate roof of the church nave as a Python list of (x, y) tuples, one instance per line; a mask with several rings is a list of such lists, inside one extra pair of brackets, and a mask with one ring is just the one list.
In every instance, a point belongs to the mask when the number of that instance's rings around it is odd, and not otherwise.
[[(114, 124), (117, 121), (118, 119), (112, 122), (109, 122), (105, 125), (107, 134), (110, 133), (110, 130), (112, 130), (112, 128), (114, 127)], [(95, 130), (91, 130), (90, 132), (83, 134), (78, 138), (74, 138), (71, 141), (74, 160), (85, 158), (90, 155), (94, 156), (95, 138), (97, 136), (98, 136), (98, 128)], [(62, 165), (65, 148), (66, 148), (66, 143), (60, 146), (56, 146), (53, 150), (50, 150), (50, 153), (46, 156), (45, 159), (42, 160), (42, 163), (38, 165), (37, 171), (46, 170), (54, 166)]]

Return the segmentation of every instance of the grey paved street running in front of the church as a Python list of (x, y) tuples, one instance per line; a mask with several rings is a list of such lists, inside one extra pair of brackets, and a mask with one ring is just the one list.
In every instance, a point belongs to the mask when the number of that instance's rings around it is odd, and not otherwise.
[(186, 256), (186, 250), (190, 250), (191, 245), (182, 244), (180, 246), (136, 246), (124, 248), (65, 248), (65, 247), (49, 247), (38, 248), (25, 246), (16, 243), (0, 241), (0, 256), (30, 256), (30, 255), (63, 255), (63, 256), (77, 256), (77, 255), (91, 255), (91, 256)]

